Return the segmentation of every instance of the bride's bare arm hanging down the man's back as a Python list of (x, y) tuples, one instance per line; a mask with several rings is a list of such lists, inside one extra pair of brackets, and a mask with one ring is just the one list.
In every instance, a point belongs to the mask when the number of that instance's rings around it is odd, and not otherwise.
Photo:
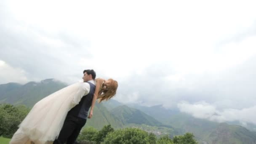
[(93, 108), (95, 106), (95, 102), (96, 102), (96, 99), (98, 97), (98, 93), (101, 90), (101, 85), (102, 85), (103, 82), (104, 82), (104, 79), (102, 79), (102, 78), (97, 78), (96, 79), (96, 88), (95, 88), (95, 91), (94, 91), (94, 94), (93, 94), (93, 101), (91, 103), (91, 110), (90, 110), (90, 114), (88, 115), (88, 118), (91, 118), (93, 116)]

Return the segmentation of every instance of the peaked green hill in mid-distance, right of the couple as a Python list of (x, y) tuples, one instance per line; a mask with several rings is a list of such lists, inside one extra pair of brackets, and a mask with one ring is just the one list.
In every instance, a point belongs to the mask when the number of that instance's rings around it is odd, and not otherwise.
[(141, 112), (138, 109), (128, 107), (126, 105), (116, 107), (111, 110), (111, 113), (115, 115), (123, 124), (145, 124), (145, 125), (161, 125), (161, 123), (155, 118)]

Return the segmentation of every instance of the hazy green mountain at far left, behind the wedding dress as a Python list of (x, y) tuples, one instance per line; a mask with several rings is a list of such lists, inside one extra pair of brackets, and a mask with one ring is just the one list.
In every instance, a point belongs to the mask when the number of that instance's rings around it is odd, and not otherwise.
[(29, 82), (25, 85), (7, 83), (0, 85), (0, 102), (32, 107), (40, 99), (66, 86), (67, 84), (54, 79), (42, 80), (39, 83)]

